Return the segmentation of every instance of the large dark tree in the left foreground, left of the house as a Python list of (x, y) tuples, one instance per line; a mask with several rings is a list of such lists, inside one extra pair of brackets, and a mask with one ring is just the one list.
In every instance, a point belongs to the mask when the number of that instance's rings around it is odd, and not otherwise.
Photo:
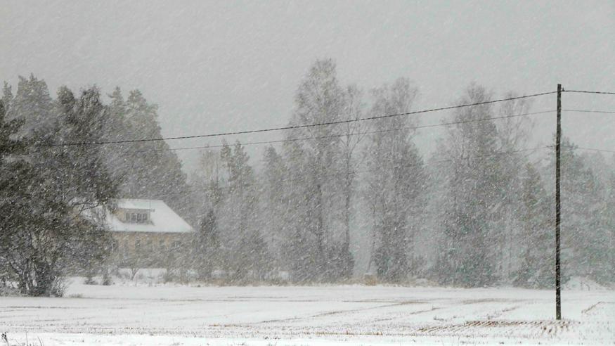
[[(43, 82), (44, 83), (44, 82)], [(41, 81), (36, 82), (40, 87)], [(22, 86), (30, 87), (22, 80)], [(27, 123), (47, 110), (46, 91), (21, 95), (12, 116)], [(32, 104), (32, 107), (28, 107)], [(1, 242), (6, 261), (22, 293), (60, 295), (61, 279), (69, 271), (91, 269), (110, 252), (110, 236), (96, 212), (110, 205), (115, 184), (102, 165), (100, 151), (91, 146), (61, 143), (98, 141), (105, 108), (98, 90), (86, 89), (75, 98), (60, 88), (56, 105), (39, 124), (22, 132), (30, 143), (27, 155), (14, 159), (13, 181), (4, 193)], [(34, 126), (35, 125), (35, 126)], [(6, 200), (5, 200), (6, 201)], [(6, 251), (6, 252), (5, 252)]]

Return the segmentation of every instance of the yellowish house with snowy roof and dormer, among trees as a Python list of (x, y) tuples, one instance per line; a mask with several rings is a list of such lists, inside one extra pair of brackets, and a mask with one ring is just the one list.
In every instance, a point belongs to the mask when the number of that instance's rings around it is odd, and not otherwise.
[(184, 219), (162, 200), (118, 199), (105, 217), (121, 262), (160, 266), (177, 255), (195, 233)]

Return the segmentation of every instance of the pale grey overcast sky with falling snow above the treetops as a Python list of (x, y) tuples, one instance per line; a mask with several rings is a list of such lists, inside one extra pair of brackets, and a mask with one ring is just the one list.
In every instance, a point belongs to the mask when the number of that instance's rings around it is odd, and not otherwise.
[[(165, 136), (287, 124), (300, 79), (323, 57), (335, 59), (343, 83), (365, 89), (409, 77), (420, 89), (415, 110), (450, 105), (472, 81), (498, 96), (551, 91), (558, 82), (615, 91), (614, 42), (615, 1), (0, 4), (0, 79), (16, 85), (32, 72), (54, 95), (62, 84), (141, 89), (160, 106)], [(533, 110), (552, 108), (555, 97), (543, 96)], [(564, 94), (564, 108), (615, 110), (615, 96)], [(550, 138), (551, 124), (538, 122), (534, 140)], [(613, 150), (615, 115), (564, 114), (564, 133)], [(437, 135), (422, 132), (426, 153)], [(219, 139), (169, 144), (205, 143)], [(254, 159), (261, 149), (251, 150)], [(188, 169), (193, 155), (181, 152)]]

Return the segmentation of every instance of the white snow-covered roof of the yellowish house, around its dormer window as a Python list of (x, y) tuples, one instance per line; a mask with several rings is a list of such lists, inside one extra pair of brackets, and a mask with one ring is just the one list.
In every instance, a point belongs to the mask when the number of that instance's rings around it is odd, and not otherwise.
[(115, 200), (118, 210), (148, 210), (147, 223), (123, 222), (117, 214), (107, 212), (106, 221), (114, 232), (192, 233), (194, 229), (162, 200), (121, 198)]

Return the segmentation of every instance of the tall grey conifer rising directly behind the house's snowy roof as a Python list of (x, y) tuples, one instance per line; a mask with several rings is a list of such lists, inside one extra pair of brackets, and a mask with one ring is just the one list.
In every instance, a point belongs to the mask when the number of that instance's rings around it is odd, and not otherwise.
[[(105, 141), (162, 139), (157, 105), (148, 103), (141, 91), (129, 92), (124, 101), (116, 88), (110, 95), (110, 120)], [(181, 161), (166, 141), (119, 143), (105, 146), (105, 162), (121, 179), (120, 196), (124, 198), (162, 199), (181, 217), (191, 222), (190, 186), (181, 169)]]

